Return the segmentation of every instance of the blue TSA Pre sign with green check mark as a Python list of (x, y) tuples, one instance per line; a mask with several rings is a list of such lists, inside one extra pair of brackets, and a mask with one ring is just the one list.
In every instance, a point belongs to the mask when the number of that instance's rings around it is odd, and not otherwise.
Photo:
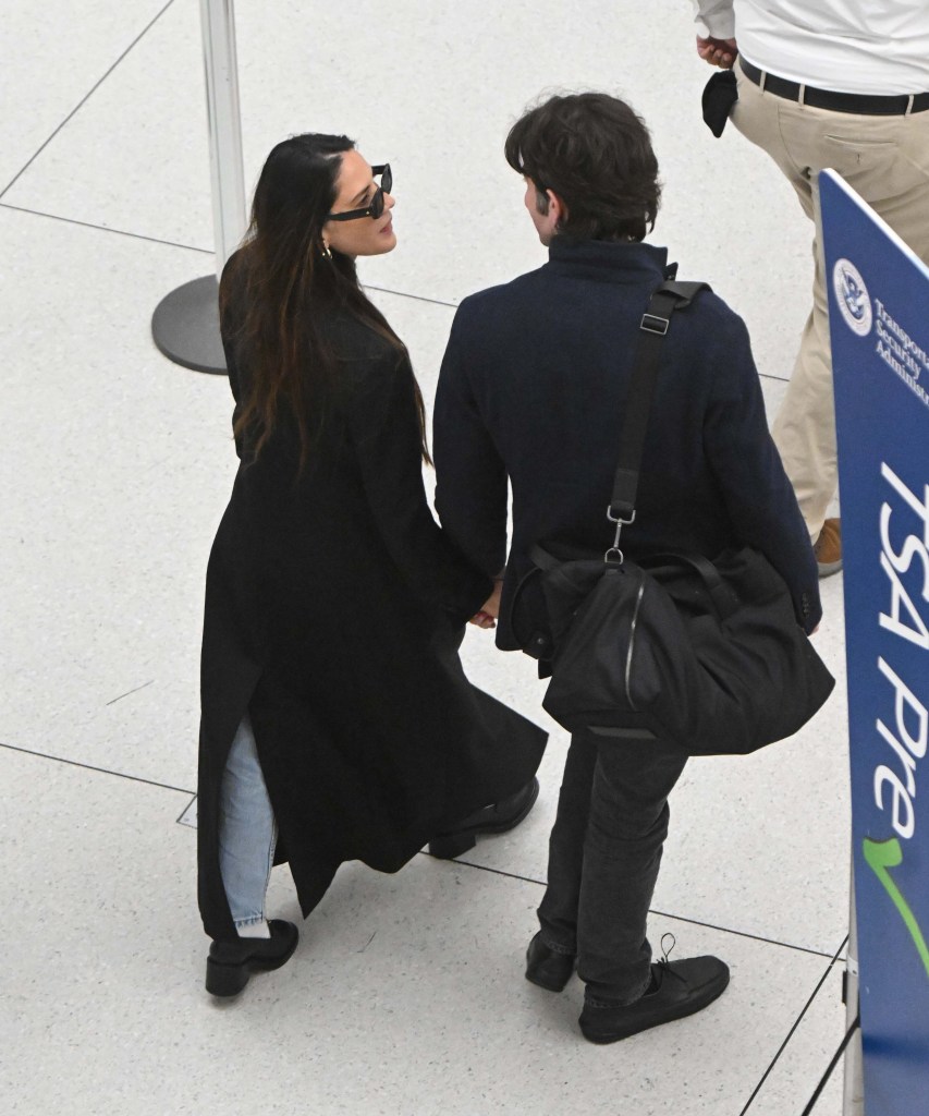
[[(820, 175), (867, 1116), (929, 1113), (929, 268)], [(927, 214), (929, 220), (929, 213)]]

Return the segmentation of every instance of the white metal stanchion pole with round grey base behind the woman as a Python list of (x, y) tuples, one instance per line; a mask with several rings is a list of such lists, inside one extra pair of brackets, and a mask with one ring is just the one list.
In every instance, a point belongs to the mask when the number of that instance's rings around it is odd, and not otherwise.
[(245, 233), (245, 177), (233, 0), (200, 0), (213, 195), (215, 275), (173, 290), (158, 304), (152, 336), (166, 357), (196, 372), (225, 373), (217, 278)]

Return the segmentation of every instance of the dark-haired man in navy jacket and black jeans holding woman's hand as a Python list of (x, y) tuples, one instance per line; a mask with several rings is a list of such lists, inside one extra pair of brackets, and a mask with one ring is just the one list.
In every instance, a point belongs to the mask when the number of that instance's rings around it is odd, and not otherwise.
[[(435, 408), (436, 507), (462, 550), (497, 574), (513, 539), (497, 645), (519, 646), (507, 602), (534, 542), (602, 554), (622, 402), (639, 323), (670, 273), (641, 243), (658, 208), (658, 165), (636, 114), (604, 94), (552, 97), (520, 119), (506, 158), (549, 262), (462, 302)], [(796, 500), (767, 432), (741, 319), (709, 291), (679, 311), (665, 341), (642, 458), (636, 521), (623, 550), (715, 556), (762, 550), (811, 631), (816, 568)], [(686, 757), (572, 738), (552, 830), (549, 886), (529, 980), (560, 991), (577, 958), (587, 983), (581, 1030), (613, 1042), (690, 1014), (728, 981), (716, 958), (651, 963), (646, 917)]]

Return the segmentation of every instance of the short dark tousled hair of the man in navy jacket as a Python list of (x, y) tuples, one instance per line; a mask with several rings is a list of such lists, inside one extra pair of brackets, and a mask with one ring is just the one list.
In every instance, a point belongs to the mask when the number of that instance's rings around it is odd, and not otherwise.
[(645, 123), (606, 93), (554, 96), (516, 121), (506, 162), (538, 191), (564, 202), (559, 233), (577, 240), (643, 240), (655, 228), (661, 186)]

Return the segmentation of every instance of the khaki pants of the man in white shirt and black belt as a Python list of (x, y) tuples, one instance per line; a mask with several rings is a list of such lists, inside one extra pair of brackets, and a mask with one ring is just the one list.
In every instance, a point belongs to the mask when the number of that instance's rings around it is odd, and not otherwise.
[[(816, 172), (838, 171), (922, 260), (929, 262), (929, 112), (859, 116), (810, 108), (763, 93), (736, 66), (738, 103), (733, 123), (767, 152), (815, 220)], [(915, 90), (919, 92), (919, 90)], [(813, 241), (813, 310), (774, 441), (815, 541), (835, 496), (838, 468), (826, 288), (819, 235)]]

